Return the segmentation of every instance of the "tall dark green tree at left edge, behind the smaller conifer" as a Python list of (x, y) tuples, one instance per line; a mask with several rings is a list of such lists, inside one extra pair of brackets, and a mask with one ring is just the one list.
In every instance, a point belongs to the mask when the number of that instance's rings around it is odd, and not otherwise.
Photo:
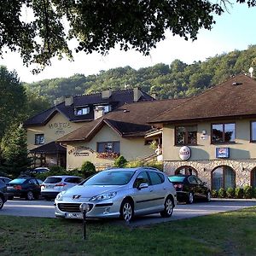
[(24, 119), (26, 94), (17, 73), (0, 67), (0, 141), (11, 125)]

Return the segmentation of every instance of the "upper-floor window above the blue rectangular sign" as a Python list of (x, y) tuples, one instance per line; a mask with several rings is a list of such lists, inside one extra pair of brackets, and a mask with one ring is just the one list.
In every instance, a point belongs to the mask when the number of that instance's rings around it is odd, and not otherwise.
[(235, 143), (235, 124), (212, 125), (212, 143)]

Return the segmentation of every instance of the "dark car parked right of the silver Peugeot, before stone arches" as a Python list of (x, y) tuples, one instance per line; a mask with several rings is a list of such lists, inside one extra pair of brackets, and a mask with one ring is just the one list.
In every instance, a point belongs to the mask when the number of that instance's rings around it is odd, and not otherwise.
[(185, 201), (189, 204), (195, 200), (211, 201), (211, 190), (199, 177), (178, 174), (168, 178), (177, 191), (177, 201)]

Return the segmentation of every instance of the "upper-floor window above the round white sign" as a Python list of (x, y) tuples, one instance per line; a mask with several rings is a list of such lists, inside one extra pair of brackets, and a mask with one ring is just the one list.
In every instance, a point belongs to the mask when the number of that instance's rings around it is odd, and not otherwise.
[(176, 145), (195, 145), (197, 143), (197, 126), (186, 125), (175, 127)]

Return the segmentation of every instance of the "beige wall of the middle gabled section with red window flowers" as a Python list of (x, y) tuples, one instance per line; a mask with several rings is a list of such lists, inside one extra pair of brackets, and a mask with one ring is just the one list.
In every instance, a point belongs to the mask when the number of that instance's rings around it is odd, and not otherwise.
[(128, 139), (120, 137), (116, 131), (108, 125), (104, 125), (101, 131), (97, 132), (90, 142), (87, 143), (68, 143), (67, 144), (67, 169), (80, 168), (85, 160), (89, 160), (101, 168), (112, 166), (112, 159), (102, 159), (96, 157), (97, 143), (103, 142), (119, 142), (120, 154), (125, 157), (126, 160), (134, 160), (143, 157), (147, 157), (154, 154), (154, 150), (149, 148), (148, 145), (144, 145), (143, 138)]

